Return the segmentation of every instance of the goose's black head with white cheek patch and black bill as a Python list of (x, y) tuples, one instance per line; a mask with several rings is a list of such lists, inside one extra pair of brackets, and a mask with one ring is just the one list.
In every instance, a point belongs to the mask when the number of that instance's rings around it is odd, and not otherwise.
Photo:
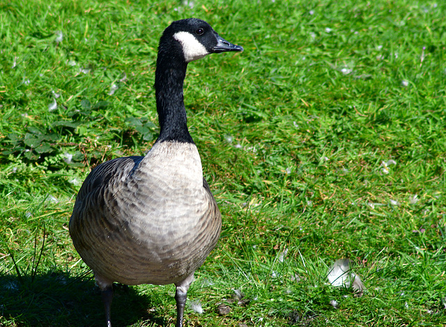
[(197, 18), (173, 22), (164, 30), (158, 48), (164, 58), (183, 58), (185, 63), (226, 51), (243, 51), (243, 47), (224, 40), (207, 22)]

